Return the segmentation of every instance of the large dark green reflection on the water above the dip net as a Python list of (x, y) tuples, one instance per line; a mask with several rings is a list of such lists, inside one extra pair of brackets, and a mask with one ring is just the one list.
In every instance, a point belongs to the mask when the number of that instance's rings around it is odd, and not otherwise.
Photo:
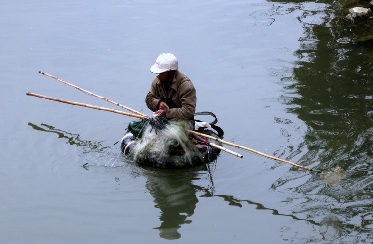
[(373, 162), (373, 62), (369, 57), (373, 43), (338, 42), (350, 27), (337, 20), (329, 24), (304, 24), (294, 82), (285, 86), (283, 102), (308, 125), (305, 163), (317, 160), (323, 169), (364, 164), (369, 170)]

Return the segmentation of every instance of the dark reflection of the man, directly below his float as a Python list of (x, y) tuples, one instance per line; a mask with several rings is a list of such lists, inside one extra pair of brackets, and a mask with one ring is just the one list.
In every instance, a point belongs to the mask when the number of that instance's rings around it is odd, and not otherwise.
[[(143, 167), (147, 171), (143, 175), (147, 178), (146, 188), (154, 198), (155, 207), (160, 209), (159, 235), (164, 239), (178, 239), (181, 237), (178, 229), (183, 224), (191, 223), (189, 219), (198, 203), (197, 191), (202, 189), (211, 192), (213, 182), (209, 165), (201, 165), (190, 169), (156, 169)], [(203, 188), (194, 184), (202, 176), (208, 175), (211, 186)]]

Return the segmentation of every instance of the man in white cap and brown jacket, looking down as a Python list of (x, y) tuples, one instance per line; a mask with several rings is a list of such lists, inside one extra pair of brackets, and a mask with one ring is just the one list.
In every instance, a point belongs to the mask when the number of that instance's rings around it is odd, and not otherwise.
[(194, 121), (196, 90), (190, 79), (178, 70), (177, 58), (171, 53), (162, 53), (150, 71), (158, 75), (145, 98), (148, 108), (169, 119)]

